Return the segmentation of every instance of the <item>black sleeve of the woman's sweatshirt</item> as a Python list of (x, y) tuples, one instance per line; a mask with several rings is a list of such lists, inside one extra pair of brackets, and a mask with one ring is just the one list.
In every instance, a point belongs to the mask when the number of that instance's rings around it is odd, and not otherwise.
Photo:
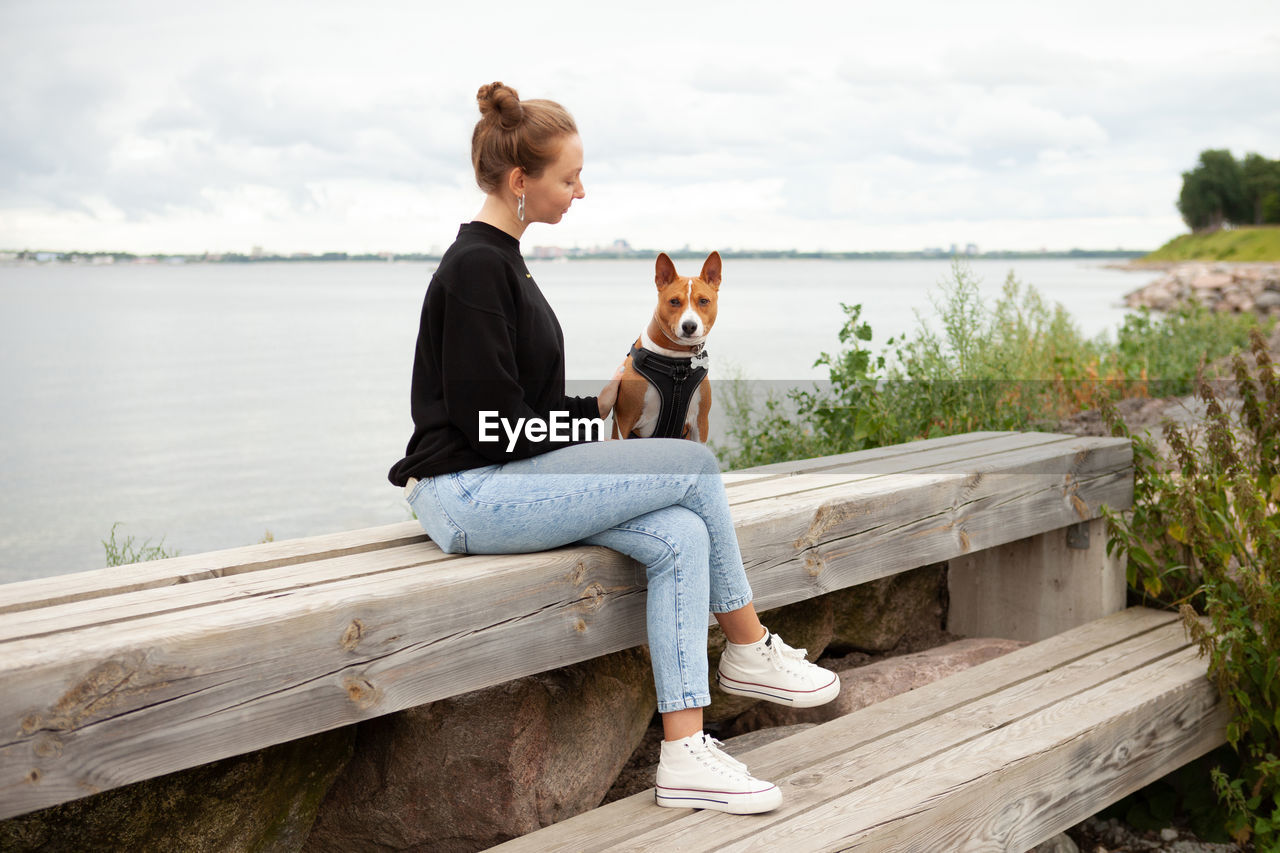
[[(516, 301), (507, 278), (507, 266), (489, 252), (468, 252), (458, 259), (452, 282), (444, 292), (440, 330), (440, 374), (449, 420), (480, 456), (500, 464), (527, 459), (547, 451), (582, 443), (590, 430), (579, 429), (573, 439), (572, 421), (599, 418), (594, 397), (561, 396), (559, 410), (538, 411), (525, 400), (521, 368), (516, 357)], [(554, 343), (550, 343), (554, 347)], [(558, 352), (548, 353), (554, 364)], [(538, 365), (524, 365), (536, 370)], [(524, 425), (556, 426), (550, 434), (532, 434)], [(506, 425), (506, 426), (504, 426)], [(518, 425), (518, 426), (517, 426)]]

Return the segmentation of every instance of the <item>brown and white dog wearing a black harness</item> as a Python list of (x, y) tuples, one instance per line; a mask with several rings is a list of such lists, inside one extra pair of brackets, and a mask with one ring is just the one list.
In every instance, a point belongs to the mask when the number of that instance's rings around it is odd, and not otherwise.
[(707, 257), (698, 278), (677, 275), (676, 265), (663, 252), (658, 255), (654, 283), (658, 307), (623, 362), (613, 437), (657, 434), (705, 442), (712, 386), (703, 347), (716, 323), (719, 252)]

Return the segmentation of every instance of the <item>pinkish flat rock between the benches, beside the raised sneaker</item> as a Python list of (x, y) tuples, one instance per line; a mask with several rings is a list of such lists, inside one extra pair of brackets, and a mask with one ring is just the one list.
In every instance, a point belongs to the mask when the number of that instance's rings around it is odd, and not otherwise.
[[(900, 654), (865, 666), (826, 661), (840, 674), (840, 695), (817, 708), (787, 708), (762, 702), (733, 721), (728, 735), (800, 722), (827, 722), (899, 693), (914, 690), (970, 666), (1007, 654), (1027, 643), (1006, 639), (963, 639), (915, 654)], [(854, 657), (861, 657), (855, 654)]]

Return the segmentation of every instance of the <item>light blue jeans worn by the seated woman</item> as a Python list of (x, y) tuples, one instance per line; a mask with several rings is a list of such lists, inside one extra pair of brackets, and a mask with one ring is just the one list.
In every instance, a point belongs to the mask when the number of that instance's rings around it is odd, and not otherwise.
[(570, 543), (645, 566), (658, 711), (710, 704), (707, 612), (746, 606), (716, 456), (678, 438), (593, 442), (419, 480), (408, 502), (445, 553), (527, 553)]

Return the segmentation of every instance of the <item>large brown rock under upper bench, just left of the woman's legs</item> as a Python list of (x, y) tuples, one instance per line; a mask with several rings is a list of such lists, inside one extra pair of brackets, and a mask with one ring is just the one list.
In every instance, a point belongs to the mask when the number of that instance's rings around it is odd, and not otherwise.
[(644, 649), (358, 725), (306, 850), (479, 850), (599, 804), (655, 708)]

